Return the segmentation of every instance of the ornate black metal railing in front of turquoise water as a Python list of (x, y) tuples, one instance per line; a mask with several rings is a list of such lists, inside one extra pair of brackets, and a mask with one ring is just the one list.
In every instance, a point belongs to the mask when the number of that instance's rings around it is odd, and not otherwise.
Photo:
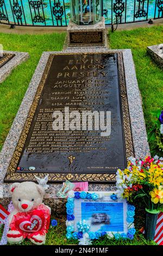
[[(12, 26), (67, 26), (70, 20), (69, 1), (0, 0), (0, 23)], [(102, 0), (102, 6), (106, 25), (163, 18), (163, 0)]]

